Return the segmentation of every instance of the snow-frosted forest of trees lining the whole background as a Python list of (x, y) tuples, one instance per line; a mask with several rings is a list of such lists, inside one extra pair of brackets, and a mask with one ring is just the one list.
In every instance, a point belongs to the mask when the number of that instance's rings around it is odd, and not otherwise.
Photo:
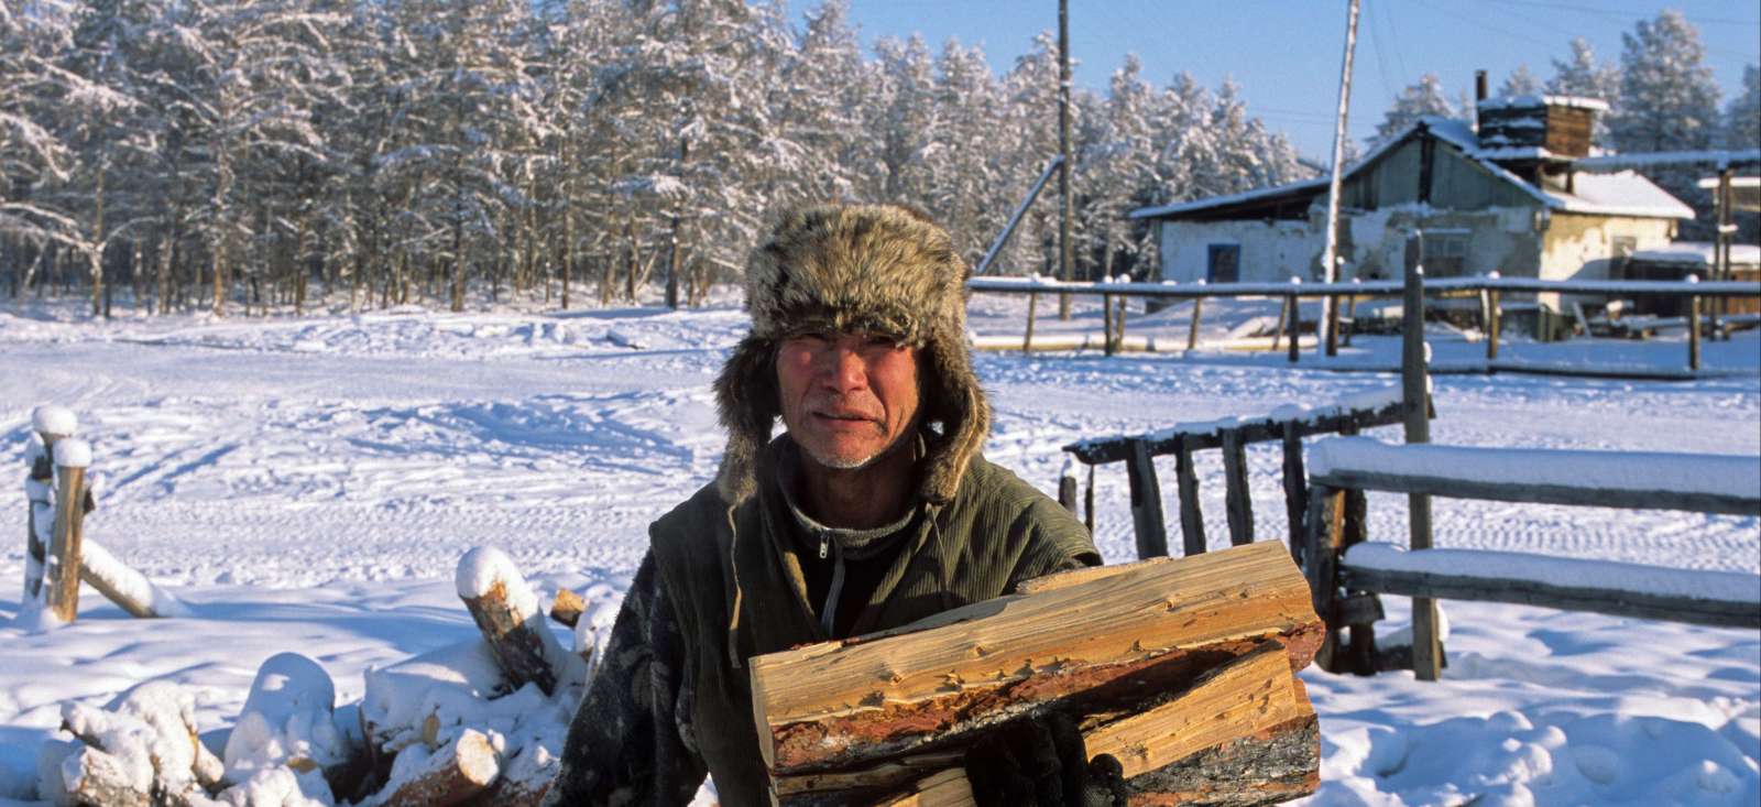
[[(729, 280), (803, 201), (902, 201), (969, 259), (1057, 153), (1057, 44), (861, 48), (842, 0), (7, 0), (0, 289), (113, 289), (157, 312), (296, 312), (468, 294), (553, 307)], [(1618, 65), (1588, 44), (1546, 92), (1613, 104), (1620, 150), (1754, 144), (1756, 69), (1720, 115), (1664, 12)], [(1520, 69), (1506, 92), (1530, 92)], [(1229, 83), (1136, 58), (1074, 92), (1079, 277), (1141, 273), (1132, 208), (1314, 176)], [(1428, 76), (1388, 125), (1460, 115)], [(1048, 190), (1053, 194), (1055, 190)], [(1057, 266), (1057, 204), (1000, 271)]]

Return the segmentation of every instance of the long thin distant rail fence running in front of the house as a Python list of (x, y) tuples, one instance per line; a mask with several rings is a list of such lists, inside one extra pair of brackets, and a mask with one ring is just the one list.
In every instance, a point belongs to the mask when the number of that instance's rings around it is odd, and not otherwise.
[[(1338, 305), (1345, 300), (1347, 308), (1354, 308), (1358, 300), (1396, 298), (1404, 294), (1400, 280), (1351, 280), (1338, 284), (1305, 284), (1293, 278), (1287, 284), (1095, 284), (1062, 282), (1048, 278), (1000, 278), (983, 277), (967, 280), (967, 289), (990, 294), (1030, 294), (1027, 333), (1021, 349), (1034, 347), (1034, 310), (1039, 294), (1099, 294), (1106, 314), (1102, 349), (1111, 356), (1125, 344), (1125, 298), (1145, 300), (1192, 300), (1192, 321), (1187, 333), (1187, 349), (1197, 347), (1199, 319), (1203, 301), (1208, 298), (1277, 298), (1284, 301), (1278, 315), (1278, 335), (1287, 337), (1289, 361), (1301, 356), (1298, 337), (1301, 335), (1301, 300), (1326, 298)], [(1617, 298), (1687, 298), (1689, 300), (1689, 356), (1691, 370), (1699, 370), (1699, 335), (1705, 322), (1701, 300), (1757, 298), (1761, 300), (1761, 282), (1749, 280), (1534, 280), (1513, 277), (1451, 277), (1426, 282), (1426, 294), (1437, 298), (1477, 296), (1481, 319), (1486, 329), (1486, 359), (1499, 358), (1499, 340), (1502, 331), (1504, 294), (1574, 294), (1574, 296), (1617, 296)], [(1115, 305), (1115, 300), (1118, 305)], [(1421, 303), (1423, 305), (1423, 303)], [(1349, 317), (1347, 317), (1349, 324)], [(1349, 335), (1349, 331), (1347, 331)], [(1273, 337), (1273, 351), (1277, 351)], [(1490, 366), (1488, 366), (1490, 370)]]

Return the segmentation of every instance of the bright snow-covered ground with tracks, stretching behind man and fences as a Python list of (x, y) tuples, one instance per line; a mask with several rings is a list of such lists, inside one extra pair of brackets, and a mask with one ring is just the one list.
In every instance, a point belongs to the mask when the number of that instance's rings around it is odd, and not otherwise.
[[(1021, 300), (981, 296), (974, 329), (1020, 333)], [(1044, 312), (1048, 307), (1041, 307)], [(1217, 308), (1213, 315), (1212, 310)], [(363, 673), (475, 634), (453, 569), (505, 550), (544, 592), (627, 587), (646, 525), (710, 479), (722, 448), (710, 379), (745, 317), (727, 305), (572, 314), (375, 312), (308, 319), (88, 322), (72, 308), (0, 308), (0, 467), (18, 469), (37, 404), (74, 409), (100, 504), (86, 536), (183, 597), (194, 617), (127, 618), (90, 589), (70, 627), (32, 634), (23, 541), (0, 550), (0, 803), (35, 793), (37, 749), (62, 701), (129, 685), (197, 692), (224, 742), (262, 659), (298, 650), (363, 694)], [(1206, 305), (1222, 338), (1277, 303)], [(1131, 333), (1185, 335), (1183, 308)], [(1074, 326), (1097, 328), (1079, 308)], [(1433, 335), (1439, 361), (1479, 356)], [(1344, 361), (1396, 359), (1358, 338)], [(1433, 441), (1463, 446), (1761, 456), (1761, 340), (1708, 342), (1691, 382), (1439, 375)], [(1680, 368), (1682, 342), (1511, 342), (1504, 354)], [(1282, 354), (984, 352), (997, 409), (986, 455), (1055, 490), (1083, 435), (1263, 414), (1396, 384)], [(1398, 439), (1398, 430), (1382, 430)], [(1261, 537), (1286, 534), (1277, 448), (1249, 455)], [(1213, 546), (1227, 543), (1220, 460), (1197, 463)], [(1162, 470), (1173, 478), (1173, 467)], [(1102, 467), (1097, 543), (1132, 557), (1125, 470)], [(14, 490), (18, 522), (23, 495)], [(1175, 513), (1171, 500), (1164, 502)], [(1761, 573), (1754, 518), (1500, 502), (1435, 504), (1437, 544)], [(1372, 539), (1402, 541), (1404, 497), (1370, 497)], [(1404, 601), (1389, 597), (1404, 626)], [(1440, 684), (1303, 673), (1321, 714), (1310, 803), (1761, 803), (1761, 636), (1534, 608), (1446, 603)]]

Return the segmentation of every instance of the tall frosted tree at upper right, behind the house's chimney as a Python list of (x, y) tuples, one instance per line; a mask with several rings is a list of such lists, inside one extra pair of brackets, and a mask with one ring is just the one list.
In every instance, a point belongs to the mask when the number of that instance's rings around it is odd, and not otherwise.
[(1620, 104), (1608, 127), (1622, 152), (1708, 148), (1719, 130), (1719, 85), (1699, 32), (1666, 9), (1622, 33)]

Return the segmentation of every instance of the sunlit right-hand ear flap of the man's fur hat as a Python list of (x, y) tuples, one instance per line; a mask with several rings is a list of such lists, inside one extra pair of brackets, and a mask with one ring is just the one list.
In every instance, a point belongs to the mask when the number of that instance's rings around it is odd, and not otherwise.
[(942, 439), (930, 448), (917, 490), (933, 504), (947, 504), (960, 479), (990, 435), (990, 404), (972, 372), (972, 358), (960, 333), (937, 328), (930, 338), (932, 409), (928, 419), (942, 421)]

